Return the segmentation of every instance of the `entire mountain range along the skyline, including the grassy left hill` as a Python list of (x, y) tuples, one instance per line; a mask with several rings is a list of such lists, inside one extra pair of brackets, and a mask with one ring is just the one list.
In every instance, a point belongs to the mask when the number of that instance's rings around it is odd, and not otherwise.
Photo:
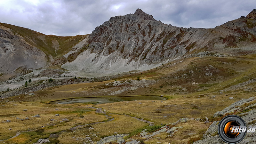
[(255, 11), (206, 29), (167, 25), (137, 9), (111, 17), (90, 35), (66, 37), (0, 23), (0, 78), (51, 66), (77, 76), (107, 76), (191, 56), (253, 54)]

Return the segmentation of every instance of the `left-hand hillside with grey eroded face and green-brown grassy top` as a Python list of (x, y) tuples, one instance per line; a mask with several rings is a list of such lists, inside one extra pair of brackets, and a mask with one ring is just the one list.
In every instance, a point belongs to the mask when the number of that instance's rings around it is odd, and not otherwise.
[(0, 23), (0, 79), (48, 67), (87, 35), (44, 35), (28, 28)]

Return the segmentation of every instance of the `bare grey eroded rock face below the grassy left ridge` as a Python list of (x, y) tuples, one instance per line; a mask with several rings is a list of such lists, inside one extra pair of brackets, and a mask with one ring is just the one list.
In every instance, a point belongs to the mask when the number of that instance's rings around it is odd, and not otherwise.
[(15, 35), (10, 28), (0, 25), (0, 73), (9, 73), (17, 68), (42, 68), (47, 64), (47, 55)]

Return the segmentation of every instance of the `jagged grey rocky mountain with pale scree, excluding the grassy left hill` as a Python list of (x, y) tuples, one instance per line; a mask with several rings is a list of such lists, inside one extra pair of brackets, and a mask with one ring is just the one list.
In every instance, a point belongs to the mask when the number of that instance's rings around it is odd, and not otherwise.
[(210, 51), (208, 55), (223, 53), (219, 56), (252, 54), (256, 45), (253, 13), (255, 10), (247, 17), (205, 29), (167, 25), (137, 9), (95, 28), (81, 48), (83, 52), (62, 68), (99, 76), (147, 70), (182, 57), (202, 56), (205, 51)]

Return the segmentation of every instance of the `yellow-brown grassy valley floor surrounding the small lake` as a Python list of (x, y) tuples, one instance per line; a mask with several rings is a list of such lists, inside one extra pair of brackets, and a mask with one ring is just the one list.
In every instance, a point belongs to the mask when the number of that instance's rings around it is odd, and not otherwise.
[[(215, 112), (233, 102), (255, 96), (254, 57), (187, 58), (107, 81), (53, 86), (12, 97), (3, 97), (9, 93), (4, 92), (0, 100), (0, 143), (32, 144), (45, 139), (49, 143), (89, 144), (116, 134), (130, 134), (124, 137), (126, 141), (141, 139), (146, 144), (181, 144), (193, 138), (200, 139), (214, 121)], [(69, 78), (75, 82), (82, 79)], [(57, 81), (53, 79), (53, 82)], [(52, 82), (35, 82), (28, 88), (44, 83)], [(51, 103), (75, 98), (145, 95), (162, 96), (168, 100)], [(210, 123), (204, 124), (206, 117)], [(139, 135), (143, 129), (148, 129), (151, 134), (157, 132), (165, 124), (171, 126), (170, 123), (180, 118), (198, 118), (199, 121), (191, 119), (175, 125), (183, 129), (172, 137), (166, 137), (166, 133), (146, 140)]]

